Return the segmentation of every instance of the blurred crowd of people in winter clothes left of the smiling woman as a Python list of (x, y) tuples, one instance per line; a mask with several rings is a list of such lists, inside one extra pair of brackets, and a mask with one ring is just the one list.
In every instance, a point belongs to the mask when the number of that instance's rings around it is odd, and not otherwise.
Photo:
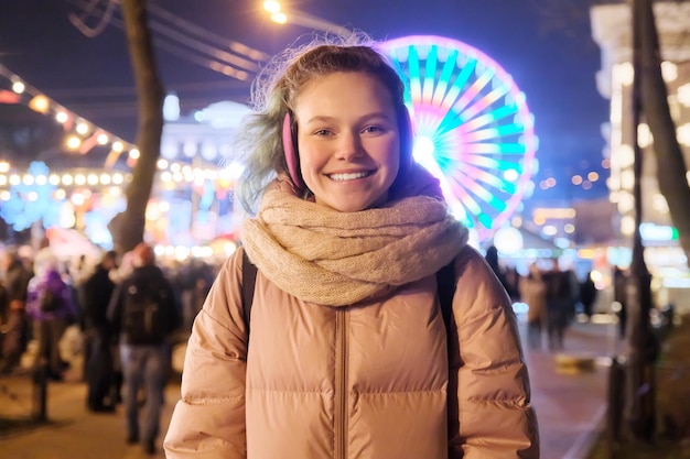
[[(218, 266), (198, 259), (161, 262), (145, 243), (121, 256), (104, 251), (91, 262), (85, 255), (61, 260), (47, 240), (42, 245), (2, 251), (0, 375), (40, 370), (61, 381), (76, 370), (88, 387), (86, 407), (114, 413), (122, 403), (128, 442), (141, 441), (152, 453), (170, 338), (186, 337)], [(80, 360), (61, 353), (68, 331), (78, 336)], [(83, 367), (71, 369), (75, 362)]]

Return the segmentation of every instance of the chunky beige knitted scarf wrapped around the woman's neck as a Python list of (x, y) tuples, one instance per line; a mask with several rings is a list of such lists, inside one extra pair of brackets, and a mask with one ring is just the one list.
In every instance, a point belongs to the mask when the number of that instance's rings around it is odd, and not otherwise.
[(278, 179), (257, 217), (245, 220), (245, 250), (278, 287), (327, 306), (352, 305), (431, 275), (465, 245), (467, 230), (432, 197), (440, 195), (435, 186), (428, 192), (435, 178), (419, 170), (413, 175), (421, 194), (357, 212), (301, 199)]

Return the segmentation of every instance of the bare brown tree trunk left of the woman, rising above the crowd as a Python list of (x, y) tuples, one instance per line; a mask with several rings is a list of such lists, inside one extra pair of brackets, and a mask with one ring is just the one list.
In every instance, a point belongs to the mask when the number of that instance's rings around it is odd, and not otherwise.
[(132, 182), (126, 190), (127, 209), (118, 214), (109, 225), (115, 249), (120, 253), (133, 249), (143, 240), (147, 204), (160, 157), (164, 98), (148, 26), (147, 0), (121, 2), (139, 100), (136, 144), (140, 156), (132, 168)]

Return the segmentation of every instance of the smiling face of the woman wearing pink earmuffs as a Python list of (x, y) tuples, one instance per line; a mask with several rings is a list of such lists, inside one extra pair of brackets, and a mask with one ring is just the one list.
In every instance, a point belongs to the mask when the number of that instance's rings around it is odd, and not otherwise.
[(385, 203), (400, 167), (392, 99), (376, 78), (334, 73), (295, 100), (300, 170), (317, 204), (343, 212)]

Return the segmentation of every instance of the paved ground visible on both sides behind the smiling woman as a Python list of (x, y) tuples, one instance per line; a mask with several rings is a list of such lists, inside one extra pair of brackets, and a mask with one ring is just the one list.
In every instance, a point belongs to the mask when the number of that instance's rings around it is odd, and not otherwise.
[[(565, 338), (569, 353), (606, 358), (612, 354), (611, 326), (576, 324)], [(532, 397), (542, 442), (542, 459), (579, 459), (601, 420), (606, 401), (607, 368), (559, 372), (556, 356), (526, 349)], [(605, 359), (597, 359), (605, 363)], [(0, 379), (0, 457), (12, 459), (138, 459), (148, 458), (139, 446), (125, 444), (121, 407), (116, 414), (93, 414), (85, 408), (86, 386), (77, 374), (48, 386), (48, 422), (24, 425), (17, 419), (31, 413), (32, 387), (24, 378)], [(166, 389), (162, 419), (165, 431), (179, 384)], [(11, 428), (9, 426), (12, 426)], [(155, 458), (163, 458), (159, 441)]]

